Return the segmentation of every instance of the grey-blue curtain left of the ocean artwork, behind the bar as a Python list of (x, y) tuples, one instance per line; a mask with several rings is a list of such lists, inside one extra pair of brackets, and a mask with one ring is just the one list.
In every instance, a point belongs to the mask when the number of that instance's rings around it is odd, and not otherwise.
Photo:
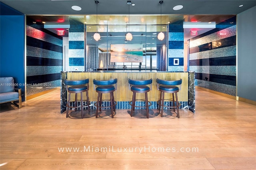
[(86, 69), (98, 69), (99, 50), (98, 46), (87, 46)]

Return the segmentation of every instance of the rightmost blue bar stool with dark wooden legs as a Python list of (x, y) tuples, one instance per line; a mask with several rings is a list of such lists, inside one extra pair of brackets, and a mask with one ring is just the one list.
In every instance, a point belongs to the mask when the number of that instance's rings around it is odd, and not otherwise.
[[(177, 93), (181, 89), (182, 79), (174, 80), (174, 81), (156, 79), (156, 83), (157, 83), (157, 89), (160, 91), (160, 99), (157, 101), (157, 104), (159, 105), (159, 111), (161, 111), (161, 117), (163, 117), (164, 107), (167, 107), (167, 108), (173, 108), (174, 112), (176, 108), (177, 117), (180, 118), (180, 113), (179, 113), (180, 103), (178, 102)], [(178, 87), (177, 85), (179, 85), (180, 87)], [(165, 99), (168, 101), (172, 101), (172, 106), (164, 105), (164, 93), (172, 93), (172, 100)], [(174, 94), (175, 94), (175, 98), (174, 98)]]

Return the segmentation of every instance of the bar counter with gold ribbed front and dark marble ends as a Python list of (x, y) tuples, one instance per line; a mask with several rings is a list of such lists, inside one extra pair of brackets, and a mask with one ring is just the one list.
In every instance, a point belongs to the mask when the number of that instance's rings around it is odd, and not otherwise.
[[(156, 101), (159, 100), (160, 92), (157, 90), (156, 79), (178, 80), (182, 79), (181, 89), (178, 92), (178, 101), (181, 103), (180, 109), (189, 109), (195, 113), (195, 73), (194, 71), (85, 71), (85, 72), (61, 72), (61, 108), (60, 113), (66, 111), (67, 90), (64, 79), (80, 80), (89, 79), (89, 99), (90, 109), (96, 109), (94, 103), (97, 101), (97, 93), (94, 90), (93, 79), (108, 80), (118, 79), (117, 89), (114, 92), (116, 109), (130, 109), (129, 102), (132, 101), (132, 92), (128, 87), (128, 78), (137, 80), (153, 79), (152, 90), (148, 92), (148, 101), (152, 102), (149, 109), (157, 109)], [(85, 95), (85, 94), (83, 94)], [(171, 98), (170, 93), (166, 93), (166, 98)], [(74, 100), (74, 96), (72, 96)], [(84, 97), (83, 97), (84, 98)], [(142, 94), (138, 98), (143, 99)]]

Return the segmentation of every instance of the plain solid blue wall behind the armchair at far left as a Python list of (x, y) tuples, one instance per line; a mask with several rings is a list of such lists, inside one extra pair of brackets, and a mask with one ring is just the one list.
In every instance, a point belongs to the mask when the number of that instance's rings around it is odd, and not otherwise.
[(0, 76), (14, 77), (25, 100), (25, 15), (0, 2)]

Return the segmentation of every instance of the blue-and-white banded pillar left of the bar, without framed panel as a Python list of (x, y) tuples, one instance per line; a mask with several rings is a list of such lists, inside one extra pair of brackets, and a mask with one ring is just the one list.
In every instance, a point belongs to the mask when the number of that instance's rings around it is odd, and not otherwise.
[(84, 71), (84, 16), (70, 16), (68, 30), (69, 71)]

